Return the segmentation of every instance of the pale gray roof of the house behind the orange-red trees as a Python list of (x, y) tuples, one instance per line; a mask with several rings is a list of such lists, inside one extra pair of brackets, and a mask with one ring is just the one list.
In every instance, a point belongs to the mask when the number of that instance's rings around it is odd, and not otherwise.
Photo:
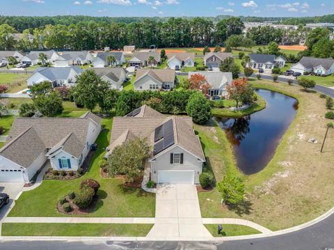
[(225, 84), (230, 84), (232, 82), (232, 72), (220, 72), (220, 71), (198, 71), (189, 72), (188, 77), (192, 75), (200, 74), (207, 79), (207, 83), (212, 86), (212, 88), (219, 89)]

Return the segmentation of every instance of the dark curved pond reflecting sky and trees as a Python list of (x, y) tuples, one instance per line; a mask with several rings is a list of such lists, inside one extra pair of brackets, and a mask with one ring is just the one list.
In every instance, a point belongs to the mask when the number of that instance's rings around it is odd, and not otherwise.
[(298, 109), (292, 97), (263, 89), (256, 92), (267, 102), (262, 111), (242, 118), (214, 117), (232, 144), (239, 169), (247, 175), (267, 166)]

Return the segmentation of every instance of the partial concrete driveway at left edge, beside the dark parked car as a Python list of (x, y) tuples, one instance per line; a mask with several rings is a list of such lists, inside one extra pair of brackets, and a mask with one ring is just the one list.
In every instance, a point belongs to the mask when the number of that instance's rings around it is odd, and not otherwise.
[(14, 200), (22, 191), (24, 183), (20, 182), (0, 182), (0, 193), (6, 193), (9, 195), (10, 202), (0, 208), (0, 221), (14, 206)]

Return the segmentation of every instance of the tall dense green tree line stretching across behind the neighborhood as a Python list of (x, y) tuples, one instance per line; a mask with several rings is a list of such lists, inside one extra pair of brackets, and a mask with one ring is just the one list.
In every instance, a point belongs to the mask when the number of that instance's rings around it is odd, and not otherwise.
[[(217, 24), (200, 17), (171, 17), (167, 22), (144, 19), (142, 22), (78, 22), (77, 24), (47, 24), (33, 31), (24, 29), (21, 40), (10, 36), (17, 32), (9, 24), (0, 25), (0, 49), (102, 49), (105, 46), (193, 47), (223, 43), (228, 36), (241, 34), (244, 23), (239, 17), (223, 19)], [(29, 40), (29, 33), (33, 41)]]

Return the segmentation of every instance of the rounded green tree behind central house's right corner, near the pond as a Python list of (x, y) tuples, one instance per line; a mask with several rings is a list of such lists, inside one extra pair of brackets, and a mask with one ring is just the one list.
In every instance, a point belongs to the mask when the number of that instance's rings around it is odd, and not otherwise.
[(189, 97), (186, 114), (197, 124), (205, 124), (211, 118), (211, 106), (202, 93), (196, 92)]

